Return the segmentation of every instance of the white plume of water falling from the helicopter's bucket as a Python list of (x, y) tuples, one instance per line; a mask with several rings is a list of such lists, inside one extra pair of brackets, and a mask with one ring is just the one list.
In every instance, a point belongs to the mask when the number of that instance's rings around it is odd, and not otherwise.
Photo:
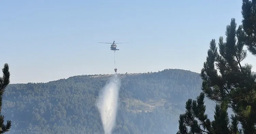
[(114, 74), (99, 93), (96, 105), (105, 134), (111, 134), (115, 126), (120, 85), (121, 79)]

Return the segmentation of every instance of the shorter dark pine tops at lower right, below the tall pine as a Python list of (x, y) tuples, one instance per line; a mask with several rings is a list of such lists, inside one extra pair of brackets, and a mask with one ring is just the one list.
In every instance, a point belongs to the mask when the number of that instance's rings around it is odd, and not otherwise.
[(227, 103), (216, 104), (214, 120), (210, 121), (205, 114), (204, 98), (205, 95), (202, 92), (196, 100), (188, 99), (186, 113), (179, 116), (177, 134), (241, 134), (241, 130), (238, 130), (237, 116), (231, 115), (229, 124)]

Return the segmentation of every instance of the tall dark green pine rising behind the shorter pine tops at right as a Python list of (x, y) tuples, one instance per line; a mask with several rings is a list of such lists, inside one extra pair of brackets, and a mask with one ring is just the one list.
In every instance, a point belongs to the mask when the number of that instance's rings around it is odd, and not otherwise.
[(245, 33), (240, 25), (236, 30), (235, 19), (231, 19), (226, 30), (226, 42), (219, 38), (219, 53), (215, 40), (210, 43), (207, 60), (201, 71), (202, 90), (206, 96), (217, 102), (223, 101), (237, 114), (244, 133), (256, 133), (255, 75), (252, 65), (241, 62), (247, 56), (243, 50)]

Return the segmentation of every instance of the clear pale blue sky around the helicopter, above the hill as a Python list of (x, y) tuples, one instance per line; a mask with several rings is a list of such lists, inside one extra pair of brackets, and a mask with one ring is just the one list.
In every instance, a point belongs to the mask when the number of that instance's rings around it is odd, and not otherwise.
[[(0, 67), (11, 83), (166, 68), (200, 72), (209, 42), (241, 24), (242, 0), (1, 0)], [(218, 42), (217, 42), (218, 43)], [(248, 52), (245, 62), (255, 65)], [(254, 67), (254, 71), (256, 68)]]

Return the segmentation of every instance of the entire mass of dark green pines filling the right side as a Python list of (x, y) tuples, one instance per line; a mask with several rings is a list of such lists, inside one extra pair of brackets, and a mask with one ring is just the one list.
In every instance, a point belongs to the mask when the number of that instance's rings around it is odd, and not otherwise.
[[(235, 19), (231, 19), (226, 42), (219, 38), (219, 50), (214, 39), (210, 42), (201, 71), (203, 92), (197, 101), (186, 102), (177, 134), (256, 134), (256, 75), (252, 74), (252, 65), (241, 63), (247, 56), (245, 45), (256, 56), (256, 0), (243, 0), (242, 14), (243, 26), (236, 30)], [(204, 113), (204, 95), (217, 102), (213, 121)], [(228, 107), (235, 113), (231, 122)], [(240, 130), (238, 122), (242, 125)]]

